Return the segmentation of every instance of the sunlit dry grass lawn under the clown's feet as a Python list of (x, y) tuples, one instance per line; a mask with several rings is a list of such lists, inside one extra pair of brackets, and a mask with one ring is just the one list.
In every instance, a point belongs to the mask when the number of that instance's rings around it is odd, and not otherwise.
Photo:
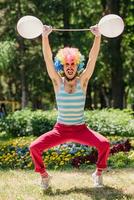
[(93, 170), (49, 171), (51, 189), (43, 192), (33, 171), (0, 171), (0, 200), (134, 200), (134, 169), (105, 172), (104, 188), (93, 188)]

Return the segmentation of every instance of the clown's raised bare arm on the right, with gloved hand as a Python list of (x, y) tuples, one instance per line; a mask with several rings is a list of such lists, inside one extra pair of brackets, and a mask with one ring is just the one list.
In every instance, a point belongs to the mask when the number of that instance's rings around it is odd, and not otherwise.
[(97, 25), (92, 26), (90, 29), (91, 29), (91, 32), (95, 35), (95, 39), (94, 39), (93, 46), (89, 52), (89, 59), (88, 59), (86, 68), (80, 77), (84, 85), (88, 84), (88, 81), (93, 74), (95, 63), (99, 54), (100, 42), (101, 42), (101, 34), (98, 30)]

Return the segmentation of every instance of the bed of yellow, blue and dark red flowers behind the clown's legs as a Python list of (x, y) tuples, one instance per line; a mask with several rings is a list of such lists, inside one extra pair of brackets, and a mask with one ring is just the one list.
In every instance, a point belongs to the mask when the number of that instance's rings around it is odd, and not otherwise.
[[(23, 137), (0, 145), (0, 168), (32, 169), (33, 164), (29, 154), (29, 144)], [(133, 141), (132, 141), (133, 144)], [(48, 168), (62, 169), (66, 167), (92, 168), (97, 160), (94, 148), (67, 143), (44, 152), (44, 161)], [(109, 157), (111, 167), (134, 166), (134, 147), (128, 140), (111, 142)]]

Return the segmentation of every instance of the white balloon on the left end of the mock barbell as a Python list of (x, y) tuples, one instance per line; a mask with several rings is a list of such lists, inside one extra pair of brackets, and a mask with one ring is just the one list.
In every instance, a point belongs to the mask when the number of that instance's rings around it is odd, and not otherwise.
[(38, 37), (43, 31), (43, 23), (34, 16), (24, 16), (17, 23), (18, 33), (27, 39)]

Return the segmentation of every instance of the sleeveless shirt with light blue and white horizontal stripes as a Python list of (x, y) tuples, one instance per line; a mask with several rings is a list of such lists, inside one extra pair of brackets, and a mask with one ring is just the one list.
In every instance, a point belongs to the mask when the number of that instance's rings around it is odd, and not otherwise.
[(58, 107), (57, 122), (67, 125), (78, 125), (84, 123), (84, 106), (86, 96), (81, 89), (80, 81), (77, 80), (76, 91), (67, 93), (64, 90), (64, 80), (59, 92), (56, 94)]

